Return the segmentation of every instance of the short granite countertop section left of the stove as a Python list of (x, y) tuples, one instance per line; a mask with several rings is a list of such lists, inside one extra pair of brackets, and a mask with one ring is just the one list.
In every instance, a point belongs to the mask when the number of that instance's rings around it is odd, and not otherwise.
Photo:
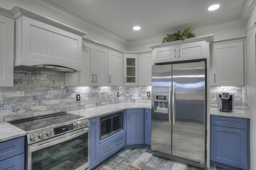
[(26, 131), (17, 128), (10, 123), (0, 123), (0, 142), (4, 142), (6, 140), (11, 140), (25, 135)]

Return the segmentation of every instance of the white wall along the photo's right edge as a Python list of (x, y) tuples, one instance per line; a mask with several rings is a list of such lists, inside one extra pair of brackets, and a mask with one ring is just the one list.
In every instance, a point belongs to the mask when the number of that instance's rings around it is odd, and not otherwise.
[[(252, 23), (256, 22), (256, 8), (246, 22), (246, 30), (249, 30)], [(250, 105), (250, 160), (251, 170), (256, 170), (256, 44), (255, 30), (249, 30), (246, 34), (246, 86)]]

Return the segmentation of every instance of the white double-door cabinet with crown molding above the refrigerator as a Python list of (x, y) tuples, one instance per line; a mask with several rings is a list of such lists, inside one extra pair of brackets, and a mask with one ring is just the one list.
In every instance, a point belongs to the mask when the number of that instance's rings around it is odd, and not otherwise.
[(166, 63), (172, 61), (204, 59), (209, 54), (209, 42), (213, 36), (203, 36), (187, 39), (186, 42), (175, 41), (150, 45), (153, 49), (154, 63)]

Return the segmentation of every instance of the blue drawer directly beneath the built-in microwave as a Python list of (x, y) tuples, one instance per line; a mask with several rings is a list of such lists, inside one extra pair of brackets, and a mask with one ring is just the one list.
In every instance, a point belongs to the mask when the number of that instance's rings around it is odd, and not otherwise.
[(110, 140), (100, 144), (100, 162), (126, 146), (126, 132), (122, 131)]

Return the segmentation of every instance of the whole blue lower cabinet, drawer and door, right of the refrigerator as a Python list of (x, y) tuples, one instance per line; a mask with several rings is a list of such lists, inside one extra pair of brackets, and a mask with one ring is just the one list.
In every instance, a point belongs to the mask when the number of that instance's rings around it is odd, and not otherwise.
[[(247, 121), (248, 119), (211, 117), (211, 164), (228, 169), (250, 169)], [(218, 123), (222, 123), (222, 126), (216, 126)], [(234, 128), (237, 126), (244, 129)]]

